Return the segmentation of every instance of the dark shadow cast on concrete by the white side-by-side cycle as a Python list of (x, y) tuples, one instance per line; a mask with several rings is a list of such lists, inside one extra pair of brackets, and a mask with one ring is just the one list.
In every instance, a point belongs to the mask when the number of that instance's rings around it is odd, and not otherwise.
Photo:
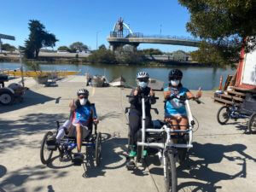
[[(187, 162), (189, 168), (183, 166), (177, 167), (177, 177), (193, 178), (201, 180), (201, 182), (180, 183), (178, 189), (180, 191), (211, 191), (222, 188), (217, 186), (217, 183), (223, 180), (233, 180), (236, 177), (247, 177), (247, 160), (253, 160), (252, 156), (246, 154), (244, 151), (247, 147), (243, 144), (201, 144), (193, 143), (191, 155), (199, 160), (191, 160)], [(225, 153), (236, 152), (239, 156), (227, 156)], [(224, 172), (216, 172), (208, 167), (210, 164), (218, 164), (223, 159), (230, 160), (236, 165), (241, 166), (241, 171), (235, 174), (228, 174)], [(185, 172), (185, 170), (189, 172)]]

